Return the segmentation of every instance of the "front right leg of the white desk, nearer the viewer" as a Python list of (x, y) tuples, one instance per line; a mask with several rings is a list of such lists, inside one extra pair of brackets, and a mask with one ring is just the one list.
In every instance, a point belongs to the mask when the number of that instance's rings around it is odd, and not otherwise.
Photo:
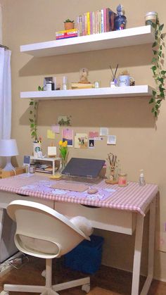
[(139, 275), (141, 266), (141, 248), (143, 237), (143, 215), (137, 213), (136, 217), (136, 237), (134, 246), (134, 264), (132, 273), (132, 295), (139, 295)]

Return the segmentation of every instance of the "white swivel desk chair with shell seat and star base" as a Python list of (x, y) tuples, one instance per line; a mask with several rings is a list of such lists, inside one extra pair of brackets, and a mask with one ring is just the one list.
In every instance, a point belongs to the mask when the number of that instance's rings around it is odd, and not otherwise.
[(15, 245), (18, 250), (31, 256), (46, 258), (46, 285), (4, 284), (1, 295), (9, 294), (9, 291), (55, 295), (58, 294), (56, 291), (80, 285), (82, 290), (89, 292), (89, 277), (56, 285), (51, 282), (52, 258), (68, 253), (83, 239), (90, 240), (84, 232), (64, 215), (40, 203), (12, 201), (7, 207), (7, 213), (17, 224)]

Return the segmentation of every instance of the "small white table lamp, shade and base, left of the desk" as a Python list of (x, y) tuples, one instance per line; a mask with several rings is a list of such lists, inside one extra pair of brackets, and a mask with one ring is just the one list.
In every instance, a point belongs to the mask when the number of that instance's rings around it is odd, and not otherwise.
[(0, 140), (0, 156), (6, 157), (6, 166), (3, 170), (10, 171), (15, 168), (11, 164), (11, 156), (18, 155), (18, 146), (15, 139), (1, 139)]

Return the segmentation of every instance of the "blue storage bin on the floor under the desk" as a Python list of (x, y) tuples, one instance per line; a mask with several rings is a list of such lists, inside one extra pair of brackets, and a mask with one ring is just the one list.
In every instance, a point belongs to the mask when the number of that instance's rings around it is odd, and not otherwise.
[(91, 241), (82, 241), (75, 249), (65, 254), (66, 268), (78, 270), (90, 275), (94, 274), (101, 265), (103, 237), (91, 235)]

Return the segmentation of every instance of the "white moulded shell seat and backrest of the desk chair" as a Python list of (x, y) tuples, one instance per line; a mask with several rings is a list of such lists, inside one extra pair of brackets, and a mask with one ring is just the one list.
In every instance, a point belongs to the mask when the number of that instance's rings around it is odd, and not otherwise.
[(60, 257), (83, 239), (90, 240), (68, 218), (41, 203), (15, 200), (8, 205), (7, 213), (17, 225), (15, 245), (32, 256)]

